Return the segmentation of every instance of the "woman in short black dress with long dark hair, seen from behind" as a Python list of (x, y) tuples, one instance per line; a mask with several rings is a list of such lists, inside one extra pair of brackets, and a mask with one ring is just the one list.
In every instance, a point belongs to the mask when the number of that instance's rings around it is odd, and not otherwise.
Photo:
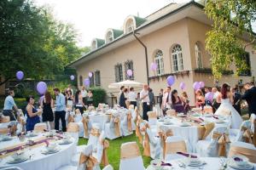
[(50, 130), (50, 127), (54, 127), (54, 116), (52, 111), (54, 100), (51, 98), (49, 91), (45, 92), (41, 107), (43, 108), (43, 122), (47, 122), (47, 129)]

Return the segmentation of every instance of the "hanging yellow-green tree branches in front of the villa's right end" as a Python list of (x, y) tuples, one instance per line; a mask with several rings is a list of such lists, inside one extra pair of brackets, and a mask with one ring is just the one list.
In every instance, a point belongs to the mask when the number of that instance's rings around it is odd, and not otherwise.
[(236, 74), (247, 71), (244, 55), (246, 46), (255, 44), (252, 23), (256, 20), (256, 2), (208, 0), (205, 11), (212, 19), (212, 30), (207, 32), (207, 50), (212, 56), (213, 76), (220, 78), (230, 65), (236, 65)]

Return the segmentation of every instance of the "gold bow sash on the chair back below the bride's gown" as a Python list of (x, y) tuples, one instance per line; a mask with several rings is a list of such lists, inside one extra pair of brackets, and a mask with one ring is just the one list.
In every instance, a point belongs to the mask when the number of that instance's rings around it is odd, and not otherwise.
[(230, 143), (229, 135), (213, 132), (212, 139), (218, 140), (218, 156), (226, 156), (226, 144)]

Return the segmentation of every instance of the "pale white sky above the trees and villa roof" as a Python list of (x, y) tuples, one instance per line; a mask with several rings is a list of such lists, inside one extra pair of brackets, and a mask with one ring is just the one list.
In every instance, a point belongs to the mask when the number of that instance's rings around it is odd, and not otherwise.
[(189, 0), (35, 0), (38, 6), (53, 8), (57, 20), (73, 24), (79, 32), (79, 46), (90, 46), (93, 38), (104, 39), (108, 28), (122, 29), (130, 14), (146, 17), (169, 3)]

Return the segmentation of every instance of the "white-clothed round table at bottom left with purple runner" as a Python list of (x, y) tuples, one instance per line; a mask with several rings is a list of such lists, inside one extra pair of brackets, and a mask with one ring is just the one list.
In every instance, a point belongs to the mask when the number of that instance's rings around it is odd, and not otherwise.
[[(42, 135), (38, 135), (38, 137), (42, 137)], [(38, 137), (33, 137), (31, 139), (37, 139)], [(74, 141), (75, 140), (73, 139), (72, 144), (60, 144), (59, 147), (61, 150), (49, 155), (44, 155), (41, 153), (41, 150), (43, 150), (45, 147), (44, 145), (32, 148), (32, 150), (26, 150), (26, 154), (32, 155), (32, 159), (20, 163), (9, 164), (7, 161), (10, 159), (10, 157), (4, 157), (2, 161), (0, 161), (0, 169), (1, 167), (20, 167), (24, 170), (54, 170), (65, 166), (70, 163), (73, 153), (76, 150), (76, 144)], [(0, 149), (3, 150), (5, 147), (19, 143), (20, 141), (18, 138), (7, 142), (0, 142)]]

